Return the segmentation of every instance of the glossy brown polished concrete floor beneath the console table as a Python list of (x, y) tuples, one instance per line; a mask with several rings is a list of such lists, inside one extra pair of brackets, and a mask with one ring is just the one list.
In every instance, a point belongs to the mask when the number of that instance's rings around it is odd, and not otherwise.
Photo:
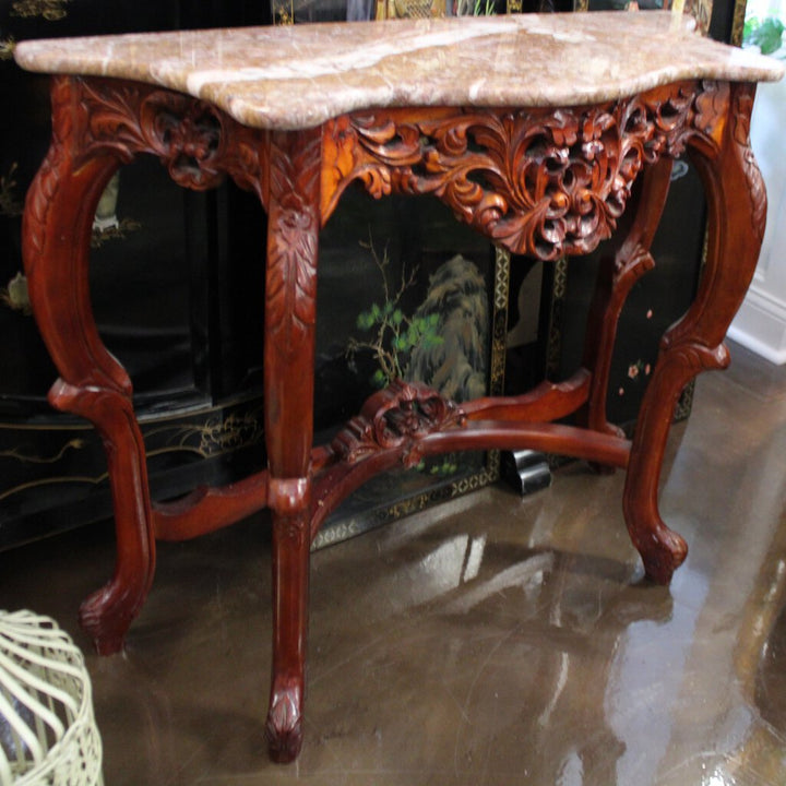
[[(123, 655), (87, 654), (108, 786), (786, 784), (786, 369), (737, 349), (672, 431), (642, 580), (623, 476), (563, 468), (313, 558), (307, 739), (267, 762), (264, 522), (165, 545)], [(0, 555), (2, 603), (74, 624), (111, 569), (80, 531)]]

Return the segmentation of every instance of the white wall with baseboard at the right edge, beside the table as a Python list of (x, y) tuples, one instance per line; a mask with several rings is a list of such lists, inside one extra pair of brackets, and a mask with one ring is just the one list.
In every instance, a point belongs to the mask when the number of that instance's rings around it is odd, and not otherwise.
[[(758, 7), (758, 8), (757, 8)], [(786, 0), (752, 0), (749, 15), (779, 15)], [(783, 53), (783, 49), (779, 53)], [(759, 85), (751, 144), (767, 189), (767, 225), (759, 266), (729, 337), (774, 364), (786, 364), (786, 79)]]

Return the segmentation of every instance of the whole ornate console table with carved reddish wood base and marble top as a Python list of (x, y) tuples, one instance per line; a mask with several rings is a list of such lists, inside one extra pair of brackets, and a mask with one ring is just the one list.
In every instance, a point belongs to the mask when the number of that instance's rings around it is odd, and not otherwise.
[[(353, 489), (395, 465), (464, 449), (532, 446), (624, 467), (624, 516), (647, 574), (668, 582), (687, 552), (660, 520), (671, 413), (699, 371), (723, 368), (726, 329), (759, 253), (764, 187), (748, 136), (765, 58), (700, 38), (668, 14), (577, 14), (239, 28), (27, 41), (52, 79), (53, 134), (27, 196), (24, 253), (35, 315), (59, 369), (51, 403), (95, 424), (117, 527), (112, 580), (82, 606), (98, 650), (122, 646), (153, 581), (155, 540), (213, 531), (261, 508), (273, 521), (271, 752), (302, 736), (309, 546)], [(710, 202), (706, 270), (663, 338), (632, 441), (606, 420), (617, 319), (648, 252), (671, 159), (688, 151)], [(177, 503), (150, 500), (145, 450), (122, 367), (91, 313), (90, 229), (115, 170), (140, 153), (207, 189), (226, 175), (269, 216), (265, 429), (269, 465)], [(343, 191), (433, 194), (496, 243), (552, 260), (612, 235), (584, 364), (560, 383), (463, 406), (421, 385), (374, 394), (313, 446), (318, 238)], [(579, 426), (555, 422), (571, 413)]]

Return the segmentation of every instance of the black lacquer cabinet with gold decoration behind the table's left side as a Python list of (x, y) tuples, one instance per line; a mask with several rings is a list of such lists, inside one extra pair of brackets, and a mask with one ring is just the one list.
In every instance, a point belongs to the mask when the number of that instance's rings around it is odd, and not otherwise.
[[(0, 3), (0, 548), (111, 512), (100, 441), (46, 402), (56, 371), (27, 308), (20, 229), (49, 142), (48, 80), (16, 68), (13, 41), (269, 22), (249, 0)], [(99, 205), (96, 321), (133, 380), (158, 498), (264, 461), (263, 222), (234, 187), (183, 191), (152, 158), (122, 168)]]

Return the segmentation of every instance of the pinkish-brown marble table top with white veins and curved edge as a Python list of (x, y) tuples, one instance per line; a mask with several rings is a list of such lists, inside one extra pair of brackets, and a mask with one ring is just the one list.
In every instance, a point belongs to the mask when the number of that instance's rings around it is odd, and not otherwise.
[(523, 14), (31, 40), (14, 56), (31, 71), (158, 84), (282, 130), (367, 108), (568, 106), (783, 75), (690, 27), (668, 12)]

